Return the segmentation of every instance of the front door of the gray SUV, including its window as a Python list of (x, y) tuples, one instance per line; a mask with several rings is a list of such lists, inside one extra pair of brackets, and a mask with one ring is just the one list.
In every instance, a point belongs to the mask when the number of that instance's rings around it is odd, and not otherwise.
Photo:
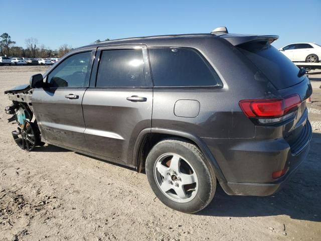
[(48, 87), (34, 89), (32, 104), (45, 142), (88, 151), (81, 102), (94, 54), (87, 50), (69, 55), (45, 76)]

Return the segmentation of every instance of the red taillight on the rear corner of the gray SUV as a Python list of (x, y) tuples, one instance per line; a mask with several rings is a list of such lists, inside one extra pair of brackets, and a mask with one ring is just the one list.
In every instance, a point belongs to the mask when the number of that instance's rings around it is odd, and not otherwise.
[(301, 104), (301, 99), (298, 94), (293, 94), (285, 98), (245, 99), (239, 104), (246, 116), (257, 118), (261, 124), (269, 124), (290, 117)]

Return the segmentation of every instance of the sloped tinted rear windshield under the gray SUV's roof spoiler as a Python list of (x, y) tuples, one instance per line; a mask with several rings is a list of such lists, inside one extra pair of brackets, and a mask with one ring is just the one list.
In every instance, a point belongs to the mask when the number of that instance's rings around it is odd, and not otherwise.
[(238, 47), (277, 89), (293, 86), (305, 78), (304, 75), (297, 77), (299, 68), (266, 41), (249, 42)]

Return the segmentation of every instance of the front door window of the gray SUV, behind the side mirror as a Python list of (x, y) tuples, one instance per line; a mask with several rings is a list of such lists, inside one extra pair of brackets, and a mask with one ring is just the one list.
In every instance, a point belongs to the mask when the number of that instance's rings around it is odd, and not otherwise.
[(74, 54), (48, 75), (48, 83), (52, 87), (88, 87), (91, 65), (91, 52)]

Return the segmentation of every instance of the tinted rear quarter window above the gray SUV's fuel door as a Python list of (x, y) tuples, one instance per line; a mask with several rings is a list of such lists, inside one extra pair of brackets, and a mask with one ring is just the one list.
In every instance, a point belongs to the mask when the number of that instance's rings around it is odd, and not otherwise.
[(192, 48), (148, 50), (154, 86), (216, 86), (218, 76)]

